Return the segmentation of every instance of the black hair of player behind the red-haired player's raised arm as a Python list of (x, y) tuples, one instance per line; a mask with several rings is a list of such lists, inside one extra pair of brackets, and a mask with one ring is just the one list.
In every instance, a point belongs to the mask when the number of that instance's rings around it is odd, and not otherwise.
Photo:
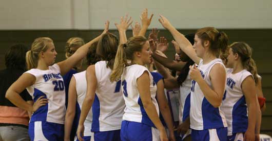
[[(195, 34), (188, 34), (185, 36), (189, 41), (190, 43), (193, 45), (193, 43), (195, 42), (194, 41), (194, 38), (195, 38)], [(187, 62), (185, 64), (185, 66), (181, 69), (181, 73), (177, 79), (178, 81), (178, 84), (182, 86), (182, 83), (186, 80), (187, 76), (188, 76), (188, 73), (189, 73), (189, 66), (190, 65), (193, 65), (195, 62), (192, 61), (192, 59), (190, 59), (190, 57), (188, 57), (187, 54), (185, 53), (182, 53), (182, 56), (181, 56), (181, 61), (184, 61), (184, 62)]]

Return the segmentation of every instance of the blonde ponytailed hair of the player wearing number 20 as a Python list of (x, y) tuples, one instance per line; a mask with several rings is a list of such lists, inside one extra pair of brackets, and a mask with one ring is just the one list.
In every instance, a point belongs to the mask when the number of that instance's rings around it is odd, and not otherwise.
[(38, 63), (38, 54), (48, 49), (48, 42), (53, 42), (48, 37), (36, 38), (31, 45), (31, 50), (26, 53), (27, 69), (36, 68)]

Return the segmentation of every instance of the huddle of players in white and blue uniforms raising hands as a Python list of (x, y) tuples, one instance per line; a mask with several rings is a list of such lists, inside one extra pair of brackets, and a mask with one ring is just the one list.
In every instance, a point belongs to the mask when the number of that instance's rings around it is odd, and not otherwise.
[[(145, 67), (152, 57), (157, 60), (158, 42), (144, 37), (152, 16), (148, 17), (145, 9), (140, 16), (142, 27), (136, 23), (133, 37), (128, 40), (126, 30), (131, 17), (126, 15), (115, 23), (119, 40), (108, 33), (107, 21), (100, 36), (58, 63), (54, 63), (57, 53), (52, 39), (34, 40), (26, 56), (29, 70), (6, 93), (14, 105), (33, 112), (29, 123), (31, 140), (70, 140), (73, 122), (78, 126), (75, 139), (79, 140), (176, 140), (163, 91), (171, 80), (163, 81), (160, 74)], [(176, 40), (181, 60), (189, 57), (195, 63), (179, 64), (187, 69), (180, 74), (186, 77), (179, 85), (183, 102), (178, 127), (183, 134), (179, 139), (258, 139), (261, 112), (256, 85), (260, 78), (250, 47), (244, 42), (228, 46), (227, 35), (212, 27), (199, 29), (187, 39), (166, 17), (160, 15), (159, 21)], [(101, 61), (73, 75), (66, 113), (62, 76), (90, 51)], [(219, 59), (224, 57), (224, 62)], [(24, 89), (34, 105), (19, 96)], [(188, 126), (189, 130), (183, 130)]]

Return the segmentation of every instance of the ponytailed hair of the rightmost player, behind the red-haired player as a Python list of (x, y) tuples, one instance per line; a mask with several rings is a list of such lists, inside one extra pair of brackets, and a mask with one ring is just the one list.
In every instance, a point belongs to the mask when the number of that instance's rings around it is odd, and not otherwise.
[(257, 85), (259, 79), (257, 76), (257, 66), (251, 58), (252, 51), (250, 46), (245, 42), (234, 42), (229, 47), (232, 49), (232, 53), (237, 53), (241, 57), (243, 67), (253, 75), (255, 84)]

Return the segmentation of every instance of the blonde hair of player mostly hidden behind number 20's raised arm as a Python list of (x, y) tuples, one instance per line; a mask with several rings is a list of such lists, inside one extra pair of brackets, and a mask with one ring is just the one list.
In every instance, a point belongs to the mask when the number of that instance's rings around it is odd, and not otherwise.
[(65, 57), (68, 58), (73, 55), (74, 52), (72, 52), (71, 48), (73, 47), (80, 47), (84, 45), (84, 40), (80, 37), (71, 37), (67, 40), (65, 44)]

